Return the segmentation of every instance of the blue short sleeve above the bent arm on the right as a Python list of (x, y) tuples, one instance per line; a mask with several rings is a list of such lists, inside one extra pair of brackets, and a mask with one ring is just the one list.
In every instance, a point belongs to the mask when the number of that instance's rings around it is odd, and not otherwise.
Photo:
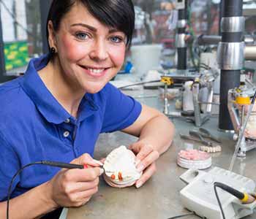
[(110, 83), (105, 86), (106, 106), (101, 132), (122, 130), (137, 120), (141, 104)]

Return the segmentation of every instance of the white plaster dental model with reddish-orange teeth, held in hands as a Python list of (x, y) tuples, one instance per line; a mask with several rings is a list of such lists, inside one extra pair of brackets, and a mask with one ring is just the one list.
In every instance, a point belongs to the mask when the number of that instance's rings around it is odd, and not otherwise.
[(134, 185), (142, 174), (136, 169), (135, 154), (123, 145), (111, 151), (103, 168), (105, 169), (103, 177), (106, 183), (116, 188)]

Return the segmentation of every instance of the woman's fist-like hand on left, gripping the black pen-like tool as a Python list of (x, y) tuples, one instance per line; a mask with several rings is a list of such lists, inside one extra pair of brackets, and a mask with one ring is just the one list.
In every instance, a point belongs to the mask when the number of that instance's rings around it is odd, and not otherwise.
[(71, 164), (88, 164), (88, 169), (61, 169), (48, 183), (51, 188), (51, 199), (56, 207), (79, 207), (86, 204), (98, 191), (99, 175), (103, 169), (99, 161), (83, 154)]

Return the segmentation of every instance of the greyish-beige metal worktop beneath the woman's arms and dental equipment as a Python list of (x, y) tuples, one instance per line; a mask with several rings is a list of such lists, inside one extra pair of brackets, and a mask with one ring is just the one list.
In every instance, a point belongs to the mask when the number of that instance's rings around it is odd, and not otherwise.
[[(126, 91), (131, 96), (140, 97), (140, 95), (157, 95), (157, 91)], [(157, 97), (138, 99), (148, 106), (163, 109), (163, 101)], [(176, 156), (179, 150), (192, 147), (198, 148), (199, 143), (184, 141), (180, 139), (178, 133), (188, 134), (190, 129), (197, 129), (192, 123), (185, 120), (173, 119), (176, 126), (176, 137), (170, 149), (164, 153), (157, 161), (157, 173), (151, 180), (137, 189), (135, 186), (130, 188), (111, 188), (101, 178), (99, 191), (95, 194), (89, 203), (83, 207), (69, 208), (67, 219), (102, 219), (102, 218), (129, 218), (129, 219), (167, 219), (176, 215), (182, 215), (188, 211), (184, 209), (179, 198), (179, 191), (185, 184), (181, 182), (179, 176), (187, 169), (182, 169), (176, 164)], [(212, 166), (219, 166), (228, 169), (230, 164), (235, 142), (231, 140), (231, 134), (217, 131), (217, 118), (211, 118), (203, 125), (222, 139), (222, 153), (212, 155)], [(161, 128), (161, 127), (159, 127)], [(102, 134), (97, 142), (95, 158), (103, 158), (110, 153), (113, 148), (119, 145), (129, 145), (136, 141), (135, 137), (121, 132), (113, 134)], [(237, 158), (233, 172), (242, 174), (246, 177), (256, 180), (256, 150), (246, 153), (246, 158)], [(61, 217), (66, 218), (66, 217)], [(197, 216), (188, 216), (187, 218), (198, 218)], [(256, 215), (246, 217), (246, 219), (256, 218)]]

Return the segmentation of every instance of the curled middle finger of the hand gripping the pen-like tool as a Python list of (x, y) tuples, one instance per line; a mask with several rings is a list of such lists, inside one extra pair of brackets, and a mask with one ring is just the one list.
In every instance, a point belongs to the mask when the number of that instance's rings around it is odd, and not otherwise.
[(86, 191), (97, 187), (99, 185), (99, 177), (97, 179), (90, 181), (90, 182), (74, 182), (74, 183), (67, 183), (64, 185), (65, 193), (77, 193), (80, 191)]

